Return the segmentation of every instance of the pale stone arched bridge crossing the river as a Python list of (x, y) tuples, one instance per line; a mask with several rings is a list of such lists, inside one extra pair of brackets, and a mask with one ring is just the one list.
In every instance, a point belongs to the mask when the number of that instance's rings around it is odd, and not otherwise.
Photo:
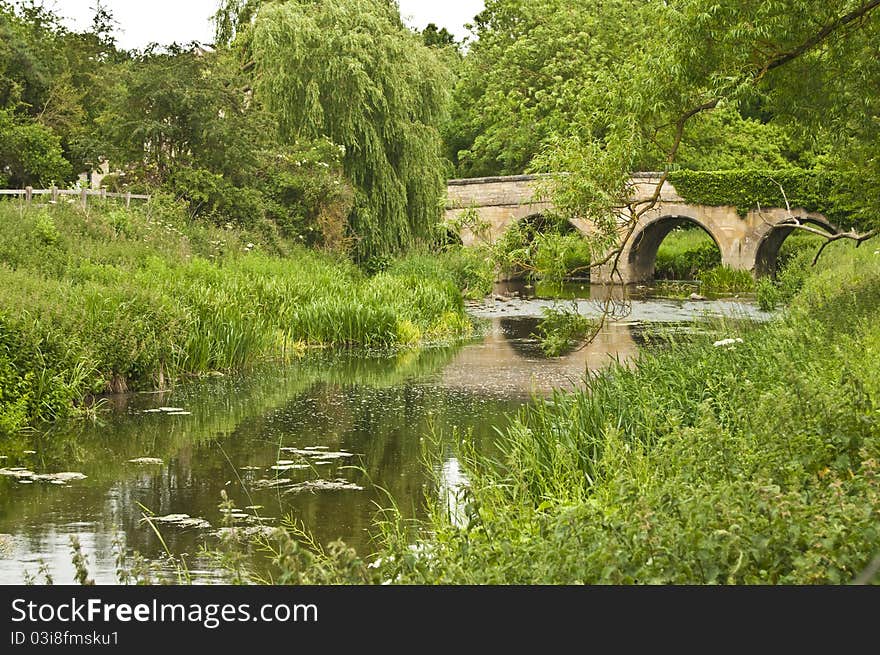
[[(462, 230), (465, 245), (479, 240), (494, 242), (513, 223), (552, 210), (549, 202), (534, 202), (536, 176), (486, 177), (450, 180), (447, 189), (446, 218), (454, 221), (467, 211), (476, 211), (484, 228)], [(660, 181), (657, 174), (638, 173), (633, 177), (633, 201), (647, 200)], [(792, 209), (804, 222), (832, 230), (824, 216), (803, 209)], [(776, 266), (779, 248), (793, 228), (774, 227), (790, 219), (787, 209), (762, 208), (749, 211), (745, 217), (732, 206), (693, 205), (678, 195), (669, 182), (663, 185), (660, 201), (640, 220), (633, 237), (620, 257), (620, 278), (615, 282), (645, 282), (654, 277), (654, 262), (660, 243), (675, 227), (695, 223), (703, 228), (721, 251), (721, 263), (756, 275), (771, 272)], [(465, 221), (466, 223), (467, 221)], [(572, 225), (590, 234), (593, 226), (586, 220), (573, 220)], [(608, 267), (593, 272), (594, 282), (610, 282)]]

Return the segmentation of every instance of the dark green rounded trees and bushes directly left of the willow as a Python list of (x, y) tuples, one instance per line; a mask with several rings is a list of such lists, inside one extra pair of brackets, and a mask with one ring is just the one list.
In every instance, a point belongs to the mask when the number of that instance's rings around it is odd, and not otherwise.
[(339, 148), (320, 138), (282, 143), (228, 53), (148, 51), (118, 75), (100, 134), (111, 160), (125, 166), (106, 187), (164, 187), (194, 218), (262, 224), (307, 245), (349, 249), (352, 190)]

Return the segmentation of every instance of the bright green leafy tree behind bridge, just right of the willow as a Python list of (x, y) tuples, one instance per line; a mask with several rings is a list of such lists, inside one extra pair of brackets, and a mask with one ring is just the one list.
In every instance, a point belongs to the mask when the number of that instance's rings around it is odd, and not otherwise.
[(633, 2), (487, 0), (455, 87), (447, 155), (462, 177), (523, 173), (636, 40)]

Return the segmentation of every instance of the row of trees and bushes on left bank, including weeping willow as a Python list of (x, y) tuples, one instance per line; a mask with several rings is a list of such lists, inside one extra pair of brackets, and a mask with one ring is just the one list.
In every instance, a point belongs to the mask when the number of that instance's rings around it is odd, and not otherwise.
[(39, 2), (0, 2), (0, 185), (107, 164), (110, 190), (361, 261), (431, 243), (449, 32), (413, 33), (384, 0), (221, 4), (216, 49), (126, 52), (100, 3), (74, 32)]

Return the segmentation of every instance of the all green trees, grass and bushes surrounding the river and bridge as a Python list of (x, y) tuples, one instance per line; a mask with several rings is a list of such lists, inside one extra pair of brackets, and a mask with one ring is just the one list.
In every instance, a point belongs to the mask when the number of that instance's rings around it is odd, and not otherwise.
[[(865, 239), (880, 228), (877, 2), (486, 0), (467, 52), (389, 0), (219, 5), (216, 48), (126, 52), (100, 3), (77, 32), (0, 0), (0, 185), (73, 186), (109, 164), (104, 188), (153, 195), (131, 211), (0, 204), (10, 440), (104, 392), (468, 334), (462, 295), (488, 292), (496, 265), (558, 283), (620, 247), (658, 202), (632, 201), (633, 171), (741, 215), (788, 204)], [(555, 214), (491, 249), (448, 247), (453, 171), (551, 173)], [(432, 505), (420, 548), (389, 519), (367, 566), (288, 526), (269, 579), (851, 580), (880, 550), (880, 259), (835, 244), (812, 268), (815, 250), (792, 236), (755, 285), (676, 231), (660, 275), (787, 309), (536, 401), (497, 459), (461, 435), (467, 502)], [(545, 352), (591, 326), (548, 311)]]

